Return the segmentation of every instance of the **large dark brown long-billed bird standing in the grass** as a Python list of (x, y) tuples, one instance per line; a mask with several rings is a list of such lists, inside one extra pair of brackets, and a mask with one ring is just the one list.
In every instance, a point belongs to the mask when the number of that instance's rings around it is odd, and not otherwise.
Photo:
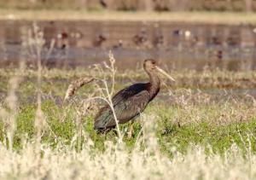
[[(112, 98), (113, 110), (119, 124), (125, 124), (135, 119), (148, 106), (160, 91), (160, 78), (157, 72), (165, 74), (175, 81), (170, 75), (164, 72), (154, 59), (143, 61), (143, 69), (148, 73), (148, 83), (137, 83), (119, 90)], [(96, 114), (94, 129), (98, 132), (107, 132), (116, 127), (116, 120), (112, 108), (106, 104)]]

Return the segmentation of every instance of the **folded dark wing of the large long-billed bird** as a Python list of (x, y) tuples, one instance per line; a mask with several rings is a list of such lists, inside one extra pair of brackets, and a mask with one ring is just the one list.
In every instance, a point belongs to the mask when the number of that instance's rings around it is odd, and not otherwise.
[[(148, 90), (145, 84), (135, 84), (120, 90), (113, 96), (113, 109), (119, 123), (125, 123), (143, 112), (149, 102)], [(115, 126), (113, 112), (109, 106), (102, 107), (96, 116), (95, 128), (104, 129)]]

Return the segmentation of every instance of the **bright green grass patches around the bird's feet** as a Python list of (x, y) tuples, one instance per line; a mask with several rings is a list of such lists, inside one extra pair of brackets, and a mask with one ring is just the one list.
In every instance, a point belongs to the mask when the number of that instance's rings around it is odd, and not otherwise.
[[(14, 147), (17, 149), (21, 148), (22, 138), (29, 137), (29, 139), (32, 139), (36, 134), (34, 128), (36, 108), (36, 105), (30, 104), (20, 107), (14, 140)], [(185, 153), (192, 144), (196, 144), (205, 148), (211, 147), (215, 153), (223, 154), (225, 149), (230, 148), (234, 142), (236, 142), (239, 148), (246, 151), (249, 147), (248, 139), (252, 144), (251, 148), (253, 152), (256, 153), (256, 116), (247, 117), (247, 119), (242, 122), (237, 122), (236, 119), (233, 119), (234, 122), (232, 123), (218, 125), (214, 122), (214, 113), (217, 112), (211, 112), (211, 108), (215, 108), (213, 104), (210, 106), (195, 105), (189, 107), (189, 111), (185, 112), (183, 112), (181, 108), (182, 107), (177, 106), (166, 107), (159, 105), (157, 102), (152, 102), (145, 112), (145, 114), (154, 114), (156, 116), (154, 119), (157, 124), (155, 133), (163, 153), (172, 156), (172, 147), (176, 147), (179, 152)], [(220, 106), (220, 108), (222, 108), (222, 106)], [(47, 126), (45, 127), (44, 136), (42, 137), (43, 142), (50, 144), (53, 148), (60, 142), (70, 144), (78, 130), (74, 122), (74, 109), (64, 109), (51, 101), (43, 102), (42, 109), (47, 119)], [(158, 111), (158, 109), (160, 109), (160, 111)], [(190, 111), (195, 109), (197, 109), (198, 114), (193, 114), (189, 117), (191, 118), (191, 122), (189, 119), (186, 119), (187, 122), (177, 123), (176, 119), (183, 118), (183, 115), (187, 116), (188, 114), (186, 113), (190, 113)], [(218, 109), (215, 109), (215, 111), (218, 111)], [(61, 119), (62, 114), (66, 114), (64, 119)], [(192, 121), (201, 114), (205, 114), (207, 119), (199, 117), (200, 121)], [(122, 130), (128, 128), (129, 125), (121, 125)], [(132, 138), (128, 139), (126, 135), (124, 137), (127, 148), (133, 148), (141, 128), (142, 125), (137, 119)], [(1, 141), (3, 141), (3, 125), (0, 126), (0, 129), (0, 137)], [(90, 138), (94, 141), (96, 149), (104, 149), (104, 142), (106, 140), (116, 141), (116, 134), (113, 133), (113, 131), (109, 132), (107, 136), (96, 134), (93, 130), (92, 115), (82, 118), (82, 129), (88, 133)]]

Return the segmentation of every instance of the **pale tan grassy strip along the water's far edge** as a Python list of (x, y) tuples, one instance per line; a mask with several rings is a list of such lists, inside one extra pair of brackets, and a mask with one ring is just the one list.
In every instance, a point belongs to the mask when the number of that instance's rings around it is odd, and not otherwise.
[(256, 13), (243, 12), (124, 12), (88, 10), (0, 9), (0, 20), (163, 20), (210, 24), (256, 24)]

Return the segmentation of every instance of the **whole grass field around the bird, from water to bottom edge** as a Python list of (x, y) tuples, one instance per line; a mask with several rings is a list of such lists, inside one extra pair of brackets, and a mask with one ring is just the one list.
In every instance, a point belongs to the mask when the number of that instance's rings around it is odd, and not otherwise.
[[(0, 177), (6, 179), (253, 179), (256, 177), (255, 72), (170, 72), (160, 95), (121, 137), (93, 130), (106, 97), (86, 84), (62, 103), (74, 79), (96, 76), (111, 90), (113, 72), (0, 69)], [(41, 75), (42, 77), (41, 77)], [(39, 77), (39, 78), (38, 78)], [(147, 81), (141, 69), (115, 73), (114, 91)], [(238, 92), (238, 93), (237, 93)], [(39, 96), (38, 96), (39, 95)]]

